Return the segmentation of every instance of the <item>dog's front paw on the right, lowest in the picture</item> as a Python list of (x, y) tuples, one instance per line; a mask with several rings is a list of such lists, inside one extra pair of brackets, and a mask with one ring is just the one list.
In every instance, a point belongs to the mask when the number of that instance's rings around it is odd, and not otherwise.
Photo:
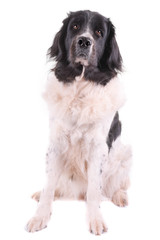
[(107, 232), (108, 228), (102, 218), (93, 218), (89, 221), (89, 231), (95, 235)]

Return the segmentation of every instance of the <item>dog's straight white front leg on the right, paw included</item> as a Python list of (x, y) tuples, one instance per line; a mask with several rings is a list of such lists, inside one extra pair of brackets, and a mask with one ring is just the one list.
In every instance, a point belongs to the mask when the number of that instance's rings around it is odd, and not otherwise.
[[(107, 147), (105, 146), (107, 153)], [(89, 230), (95, 235), (101, 235), (107, 231), (100, 212), (101, 185), (100, 166), (105, 152), (99, 152), (99, 146), (93, 150), (88, 164), (88, 189), (87, 189), (87, 211)]]

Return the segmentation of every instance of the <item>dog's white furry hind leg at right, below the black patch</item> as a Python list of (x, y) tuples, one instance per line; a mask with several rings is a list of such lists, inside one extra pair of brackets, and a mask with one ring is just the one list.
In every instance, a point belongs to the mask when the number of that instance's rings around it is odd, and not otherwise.
[(103, 194), (115, 205), (128, 205), (127, 189), (130, 185), (131, 148), (123, 145), (118, 138), (113, 142), (108, 161), (102, 173)]

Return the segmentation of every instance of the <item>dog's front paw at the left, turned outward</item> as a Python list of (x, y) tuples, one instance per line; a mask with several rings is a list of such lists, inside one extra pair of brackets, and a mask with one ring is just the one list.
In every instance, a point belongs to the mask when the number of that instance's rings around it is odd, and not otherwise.
[(26, 230), (28, 232), (40, 231), (47, 227), (47, 223), (48, 223), (49, 219), (50, 219), (50, 215), (34, 216), (27, 223)]

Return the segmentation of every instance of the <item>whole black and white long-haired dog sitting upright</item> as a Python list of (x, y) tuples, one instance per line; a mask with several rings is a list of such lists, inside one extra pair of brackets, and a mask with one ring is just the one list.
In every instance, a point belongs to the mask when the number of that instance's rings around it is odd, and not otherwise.
[(125, 96), (115, 27), (97, 12), (71, 12), (49, 56), (56, 64), (44, 93), (50, 113), (47, 181), (33, 195), (38, 208), (26, 228), (47, 226), (53, 199), (83, 199), (89, 230), (100, 235), (107, 231), (100, 202), (128, 204), (131, 165), (130, 147), (120, 141), (118, 110)]

